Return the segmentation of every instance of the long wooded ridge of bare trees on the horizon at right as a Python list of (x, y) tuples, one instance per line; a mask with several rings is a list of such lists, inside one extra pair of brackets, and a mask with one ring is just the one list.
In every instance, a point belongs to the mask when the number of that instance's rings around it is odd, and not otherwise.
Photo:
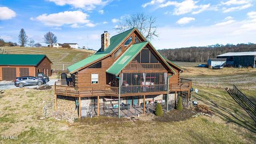
[(183, 62), (202, 62), (205, 63), (209, 58), (216, 58), (220, 54), (227, 52), (254, 52), (256, 44), (215, 44), (203, 47), (189, 47), (176, 49), (163, 49), (158, 52), (165, 58), (171, 61)]

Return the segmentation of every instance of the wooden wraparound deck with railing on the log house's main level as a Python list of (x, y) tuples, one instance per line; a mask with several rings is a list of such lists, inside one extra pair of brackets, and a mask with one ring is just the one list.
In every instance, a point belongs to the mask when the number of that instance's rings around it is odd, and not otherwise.
[[(183, 79), (185, 81), (185, 79)], [(187, 80), (188, 82), (174, 83), (169, 84), (169, 92), (178, 92), (178, 91), (189, 91), (192, 87), (192, 81)], [(150, 85), (152, 86), (152, 85)], [(140, 89), (140, 91), (128, 91), (128, 87), (126, 87), (126, 91), (122, 92), (120, 96), (140, 96), (140, 95), (152, 95), (152, 94), (166, 94), (167, 93), (167, 85), (161, 85), (162, 90), (156, 90), (156, 86), (154, 88), (148, 88), (144, 92)], [(54, 91), (56, 95), (62, 96), (74, 96), (74, 97), (90, 97), (90, 96), (118, 96), (118, 87), (110, 87), (110, 86), (98, 86), (98, 87), (74, 87), (74, 86), (63, 86), (61, 82), (55, 82)]]

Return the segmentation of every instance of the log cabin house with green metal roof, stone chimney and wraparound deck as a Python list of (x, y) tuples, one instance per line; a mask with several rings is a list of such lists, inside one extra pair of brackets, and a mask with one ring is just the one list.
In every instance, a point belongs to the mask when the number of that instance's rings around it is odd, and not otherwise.
[(175, 94), (176, 105), (181, 91), (189, 101), (192, 81), (180, 78), (186, 70), (162, 57), (137, 28), (101, 37), (98, 52), (67, 68), (72, 81), (55, 83), (55, 109), (58, 95), (75, 97), (79, 118), (145, 114), (154, 112), (156, 102), (168, 111), (169, 95)]

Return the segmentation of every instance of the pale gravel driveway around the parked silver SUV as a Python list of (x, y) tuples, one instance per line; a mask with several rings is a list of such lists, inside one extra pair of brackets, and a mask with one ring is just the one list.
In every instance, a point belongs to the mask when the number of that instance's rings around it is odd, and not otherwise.
[[(50, 79), (48, 84), (49, 86), (54, 86), (54, 83), (60, 81), (59, 79)], [(39, 87), (38, 85), (33, 85), (33, 86), (24, 86), (23, 88), (37, 88)], [(19, 88), (14, 86), (14, 82), (12, 81), (0, 81), (0, 90), (7, 90), (7, 89), (13, 89), (13, 88)]]

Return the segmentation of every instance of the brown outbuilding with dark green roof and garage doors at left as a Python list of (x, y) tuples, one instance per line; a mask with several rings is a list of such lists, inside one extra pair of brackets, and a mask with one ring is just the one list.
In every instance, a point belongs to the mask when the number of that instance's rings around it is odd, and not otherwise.
[(52, 76), (52, 64), (44, 54), (0, 54), (0, 80), (36, 76), (37, 72)]

